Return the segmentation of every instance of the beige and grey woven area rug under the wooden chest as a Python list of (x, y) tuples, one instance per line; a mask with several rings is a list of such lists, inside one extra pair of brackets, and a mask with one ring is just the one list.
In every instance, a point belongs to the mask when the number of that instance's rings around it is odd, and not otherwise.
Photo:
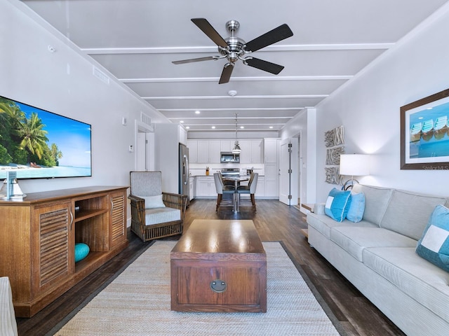
[(55, 335), (340, 335), (279, 242), (263, 243), (267, 313), (170, 311), (175, 244), (156, 241)]

